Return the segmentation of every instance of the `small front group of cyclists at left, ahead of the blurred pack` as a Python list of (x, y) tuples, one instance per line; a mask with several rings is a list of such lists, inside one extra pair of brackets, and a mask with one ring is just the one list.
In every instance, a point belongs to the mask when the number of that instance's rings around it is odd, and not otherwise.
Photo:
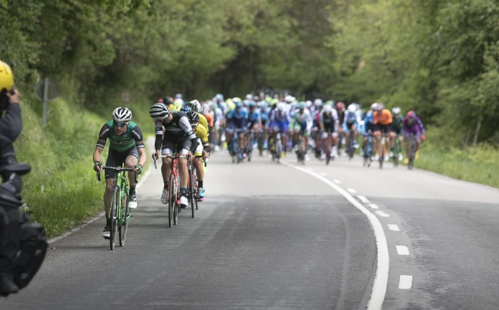
[[(181, 99), (178, 96), (177, 99)], [(197, 100), (190, 102), (179, 102), (176, 100), (168, 105), (164, 99), (159, 99), (157, 103), (149, 109), (154, 124), (156, 140), (154, 143), (155, 152), (153, 160), (162, 159), (161, 173), (163, 176), (164, 188), (161, 194), (161, 202), (168, 202), (168, 182), (170, 177), (170, 166), (174, 154), (180, 155), (178, 159), (180, 176), (180, 199), (181, 208), (188, 205), (187, 187), (188, 170), (187, 160), (191, 160), (197, 170), (198, 192), (197, 197), (202, 201), (205, 197), (203, 187), (204, 169), (203, 159), (210, 156), (211, 146), (208, 142), (209, 125), (206, 117), (200, 113), (201, 105)], [(132, 111), (126, 107), (118, 107), (112, 113), (112, 120), (102, 126), (95, 151), (93, 154), (94, 170), (100, 172), (104, 165), (101, 162), (101, 154), (106, 141), (110, 141), (109, 153), (105, 166), (121, 166), (133, 168), (133, 173), (128, 174), (129, 204), (130, 209), (137, 208), (137, 197), (135, 193), (135, 173), (140, 174), (146, 162), (146, 152), (144, 137), (140, 127), (131, 122)], [(160, 156), (162, 155), (162, 156)], [(106, 212), (106, 226), (102, 236), (110, 238), (111, 218), (109, 216), (110, 201), (113, 190), (114, 175), (112, 171), (106, 170), (106, 190), (104, 192), (104, 207)]]

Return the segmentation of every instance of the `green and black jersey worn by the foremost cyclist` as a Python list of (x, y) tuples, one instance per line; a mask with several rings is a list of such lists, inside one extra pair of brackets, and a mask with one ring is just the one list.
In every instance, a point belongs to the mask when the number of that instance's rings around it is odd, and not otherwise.
[(104, 148), (107, 139), (110, 142), (109, 147), (120, 153), (128, 151), (135, 146), (137, 146), (137, 149), (144, 148), (142, 131), (134, 122), (130, 122), (126, 132), (119, 136), (114, 131), (113, 121), (107, 122), (100, 130), (97, 147)]

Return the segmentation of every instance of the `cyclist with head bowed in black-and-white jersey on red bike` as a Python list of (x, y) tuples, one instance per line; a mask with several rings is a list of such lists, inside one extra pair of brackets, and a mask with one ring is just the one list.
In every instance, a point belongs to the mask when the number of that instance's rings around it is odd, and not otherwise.
[[(192, 130), (189, 119), (183, 112), (170, 111), (164, 104), (156, 103), (149, 109), (149, 115), (154, 121), (156, 141), (154, 147), (156, 152), (153, 159), (157, 160), (161, 155), (190, 155), (195, 153), (198, 147), (198, 140)], [(168, 182), (170, 178), (170, 165), (172, 159), (163, 157), (161, 164), (161, 174), (163, 175), (163, 192), (161, 202), (168, 203)], [(189, 172), (187, 171), (187, 159), (179, 158), (180, 172), (180, 207), (187, 207), (187, 182)]]

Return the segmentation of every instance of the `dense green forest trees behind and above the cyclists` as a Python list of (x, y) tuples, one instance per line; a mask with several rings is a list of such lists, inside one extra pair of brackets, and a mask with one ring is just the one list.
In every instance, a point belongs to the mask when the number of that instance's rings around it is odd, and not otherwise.
[(27, 96), (41, 77), (106, 112), (125, 90), (146, 107), (286, 89), (415, 109), (451, 144), (499, 145), (496, 0), (0, 0), (0, 21)]

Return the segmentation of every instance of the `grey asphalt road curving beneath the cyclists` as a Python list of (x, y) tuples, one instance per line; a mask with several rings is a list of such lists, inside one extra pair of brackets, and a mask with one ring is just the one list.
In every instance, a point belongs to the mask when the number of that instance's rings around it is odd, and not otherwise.
[(382, 276), (379, 240), (324, 179), (383, 227), (383, 309), (498, 308), (498, 189), (358, 158), (284, 161), (217, 153), (196, 217), (181, 212), (172, 228), (152, 171), (124, 247), (109, 250), (99, 218), (51, 243), (32, 283), (0, 309), (366, 309)]

